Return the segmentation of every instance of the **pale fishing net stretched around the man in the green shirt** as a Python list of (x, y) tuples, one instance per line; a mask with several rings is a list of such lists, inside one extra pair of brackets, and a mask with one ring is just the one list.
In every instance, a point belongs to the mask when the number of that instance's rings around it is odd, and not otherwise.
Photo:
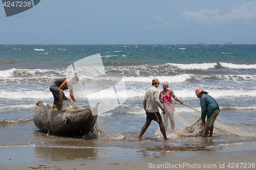
[[(193, 109), (191, 112), (182, 113), (175, 113), (176, 122), (180, 124), (178, 126), (179, 130), (166, 130), (167, 137), (174, 138), (174, 137), (185, 137), (185, 136), (203, 136), (205, 133), (206, 124), (202, 123), (201, 120), (201, 112), (198, 110), (191, 108), (190, 106), (185, 105), (188, 108)], [(191, 122), (193, 120), (194, 122)], [(177, 123), (175, 123), (176, 125)], [(182, 128), (181, 128), (182, 127)], [(256, 133), (250, 130), (246, 130), (244, 128), (234, 126), (228, 123), (223, 122), (219, 117), (217, 117), (215, 124), (214, 124), (214, 134), (229, 134), (229, 135), (237, 135), (237, 136), (244, 136), (244, 137), (256, 137)], [(158, 137), (162, 136), (162, 132), (158, 128), (155, 135)]]

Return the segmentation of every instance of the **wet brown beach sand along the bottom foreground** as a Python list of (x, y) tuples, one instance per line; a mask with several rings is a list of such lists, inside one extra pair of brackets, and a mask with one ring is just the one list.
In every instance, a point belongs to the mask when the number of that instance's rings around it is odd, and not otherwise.
[[(99, 155), (86, 159), (2, 164), (0, 169), (256, 169), (255, 141), (205, 149), (198, 147), (195, 151), (190, 151), (191, 148), (187, 149), (189, 151), (182, 148), (179, 148), (181, 151), (167, 151), (172, 147), (164, 147), (161, 142), (156, 146), (158, 148), (110, 148), (98, 150)], [(165, 151), (161, 152), (161, 148), (165, 148)], [(15, 150), (18, 152), (19, 148)]]

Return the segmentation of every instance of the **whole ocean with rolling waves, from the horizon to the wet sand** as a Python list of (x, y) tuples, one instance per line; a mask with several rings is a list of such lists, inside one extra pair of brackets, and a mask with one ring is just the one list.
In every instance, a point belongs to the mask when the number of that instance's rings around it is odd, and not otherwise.
[[(95, 54), (100, 54), (106, 72), (121, 75), (125, 83), (125, 88), (118, 93), (125, 98), (114, 109), (116, 94), (93, 96), (94, 100), (105, 102), (98, 117), (125, 139), (102, 140), (42, 133), (33, 123), (34, 104), (38, 100), (52, 104), (50, 84), (65, 77), (65, 70), (72, 63)], [(87, 86), (90, 93), (98, 92), (102, 86), (101, 80), (92, 77), (99, 74), (95, 64), (87, 64), (83, 72), (85, 80), (95, 81)], [(163, 141), (154, 138), (158, 128), (156, 122), (152, 122), (143, 135), (146, 141), (135, 141), (145, 123), (142, 102), (153, 78), (168, 81), (169, 89), (181, 101), (199, 111), (200, 100), (196, 98), (195, 90), (201, 87), (220, 105), (218, 118), (256, 132), (256, 45), (0, 45), (0, 151), (10, 154), (16, 147), (27, 147), (28, 155), (40, 161), (61, 160), (62, 152), (86, 150), (87, 154), (82, 157), (90, 158), (97, 157), (95, 152), (99, 148), (143, 149), (162, 145)], [(81, 90), (79, 83), (74, 91)], [(158, 89), (162, 90), (162, 86)], [(69, 92), (65, 93), (69, 97)], [(75, 95), (75, 98), (81, 106), (89, 105), (86, 97)], [(194, 122), (200, 116), (194, 113), (188, 107), (175, 105), (175, 129), (185, 127), (182, 119)], [(255, 140), (236, 136), (234, 132), (216, 134), (210, 141), (184, 137), (167, 143), (212, 146), (228, 143), (230, 139), (233, 142)], [(81, 154), (78, 155), (63, 159), (81, 158)], [(3, 163), (6, 159), (0, 159), (0, 164)]]

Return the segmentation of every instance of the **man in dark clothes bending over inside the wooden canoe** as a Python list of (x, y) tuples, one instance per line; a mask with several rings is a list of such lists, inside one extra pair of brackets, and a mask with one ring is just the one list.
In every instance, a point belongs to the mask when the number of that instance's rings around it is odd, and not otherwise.
[(63, 100), (68, 100), (68, 98), (65, 96), (63, 90), (69, 89), (69, 94), (71, 96), (72, 101), (76, 103), (74, 94), (73, 94), (73, 87), (77, 84), (79, 81), (79, 78), (77, 76), (70, 79), (59, 79), (56, 80), (53, 84), (50, 86), (50, 91), (53, 94), (53, 104), (57, 105), (58, 110), (65, 111), (67, 108), (63, 107)]

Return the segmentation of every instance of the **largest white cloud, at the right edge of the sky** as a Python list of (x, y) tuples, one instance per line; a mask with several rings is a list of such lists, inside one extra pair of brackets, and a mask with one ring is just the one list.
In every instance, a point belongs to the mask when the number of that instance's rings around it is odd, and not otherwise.
[(184, 10), (180, 16), (186, 20), (207, 23), (209, 25), (229, 23), (240, 19), (243, 19), (244, 22), (248, 22), (248, 19), (256, 18), (256, 3), (247, 3), (235, 7), (228, 14), (220, 15), (219, 13), (220, 11), (218, 9), (202, 9), (196, 12)]

